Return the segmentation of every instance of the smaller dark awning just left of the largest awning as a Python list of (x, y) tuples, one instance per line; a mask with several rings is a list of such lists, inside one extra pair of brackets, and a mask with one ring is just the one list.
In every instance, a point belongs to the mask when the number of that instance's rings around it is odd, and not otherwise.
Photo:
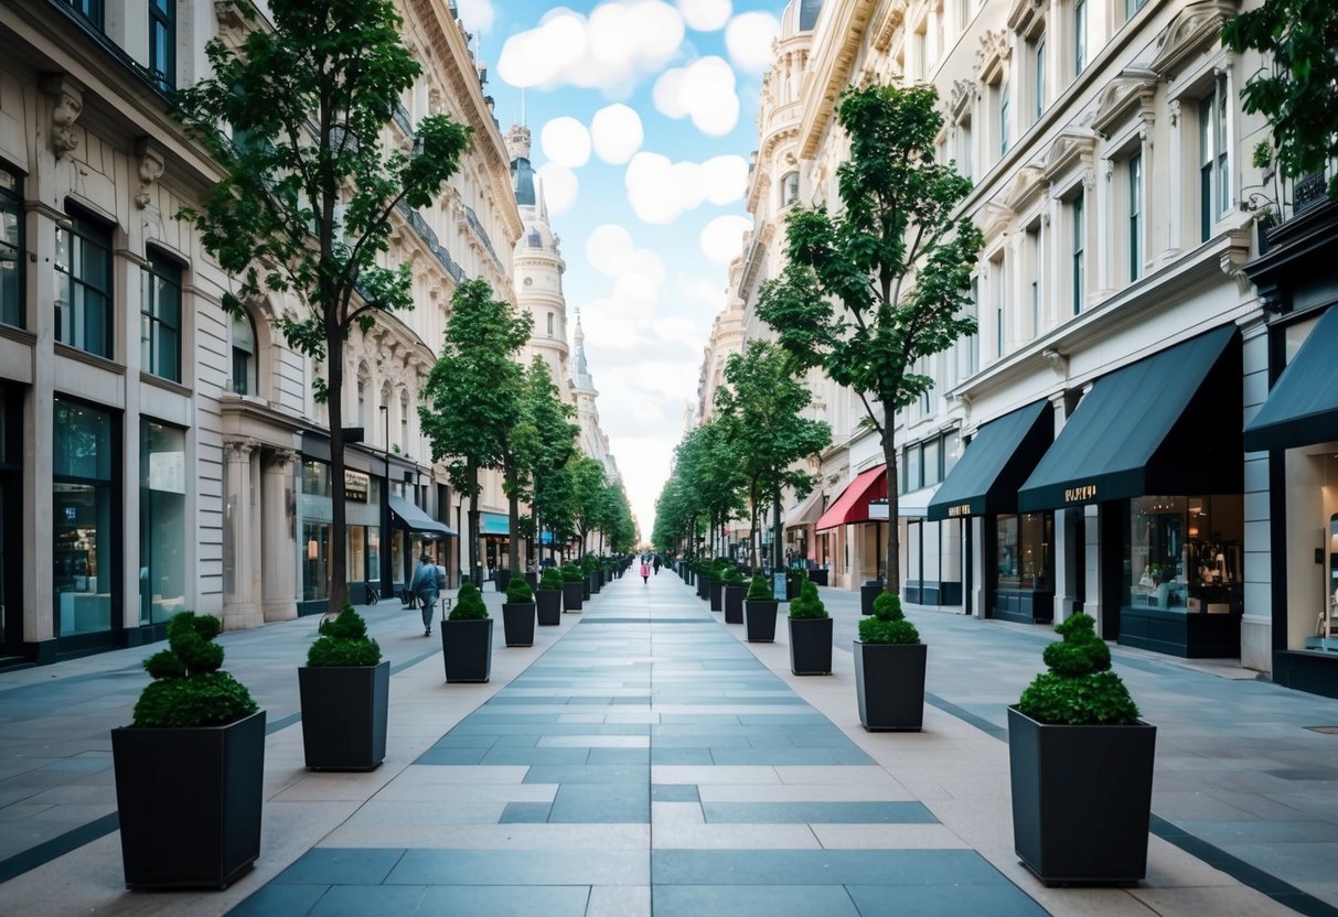
[(1017, 512), (1017, 489), (1054, 441), (1046, 400), (981, 426), (929, 504), (929, 519)]

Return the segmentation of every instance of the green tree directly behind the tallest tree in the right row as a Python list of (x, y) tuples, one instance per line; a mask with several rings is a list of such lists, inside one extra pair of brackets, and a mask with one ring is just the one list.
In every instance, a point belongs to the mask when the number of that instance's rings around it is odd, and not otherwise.
[(812, 394), (795, 370), (796, 362), (788, 353), (765, 341), (752, 341), (744, 353), (729, 356), (725, 384), (716, 389), (717, 422), (733, 453), (752, 513), (755, 564), (761, 561), (760, 519), (772, 505), (777, 509), (777, 531), (772, 536), (776, 568), (781, 565), (781, 493), (788, 487), (799, 497), (808, 496), (814, 479), (797, 463), (818, 456), (832, 438), (826, 422), (803, 416)]

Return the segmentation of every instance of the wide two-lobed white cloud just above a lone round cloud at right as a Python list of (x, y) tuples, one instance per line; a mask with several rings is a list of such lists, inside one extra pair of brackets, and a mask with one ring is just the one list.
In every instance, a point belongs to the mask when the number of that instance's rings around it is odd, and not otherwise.
[(744, 195), (748, 163), (743, 156), (713, 156), (705, 163), (670, 162), (657, 152), (638, 152), (624, 176), (628, 201), (648, 223), (672, 223), (704, 202), (727, 205)]

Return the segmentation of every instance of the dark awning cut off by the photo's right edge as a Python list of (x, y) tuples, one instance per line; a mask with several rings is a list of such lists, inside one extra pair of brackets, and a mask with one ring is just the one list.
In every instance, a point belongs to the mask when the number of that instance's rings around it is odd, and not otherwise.
[(1311, 329), (1246, 424), (1246, 449), (1294, 449), (1338, 440), (1338, 307)]

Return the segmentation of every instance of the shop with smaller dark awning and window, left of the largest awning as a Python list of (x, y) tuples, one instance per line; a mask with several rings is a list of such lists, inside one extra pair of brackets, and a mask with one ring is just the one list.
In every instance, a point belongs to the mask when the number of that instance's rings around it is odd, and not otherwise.
[[(1054, 619), (1054, 515), (1017, 505), (1018, 488), (1053, 441), (1049, 401), (1004, 414), (975, 432), (929, 503), (927, 519), (957, 529), (967, 614), (1025, 624)], [(977, 585), (981, 596), (973, 595)]]

